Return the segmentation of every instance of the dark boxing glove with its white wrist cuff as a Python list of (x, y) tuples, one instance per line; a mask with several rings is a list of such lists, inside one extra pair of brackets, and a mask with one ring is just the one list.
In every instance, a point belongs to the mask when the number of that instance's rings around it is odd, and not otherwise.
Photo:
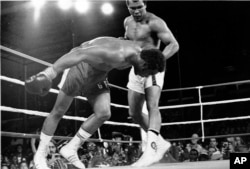
[(52, 86), (52, 79), (55, 77), (56, 73), (53, 72), (52, 67), (49, 67), (45, 71), (25, 80), (25, 89), (28, 93), (45, 96), (49, 93)]

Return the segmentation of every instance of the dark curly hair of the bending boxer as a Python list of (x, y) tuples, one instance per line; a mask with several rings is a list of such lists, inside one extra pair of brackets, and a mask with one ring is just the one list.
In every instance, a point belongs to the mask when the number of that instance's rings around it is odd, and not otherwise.
[(165, 70), (165, 59), (159, 49), (143, 49), (141, 58), (146, 62), (148, 69), (163, 72)]

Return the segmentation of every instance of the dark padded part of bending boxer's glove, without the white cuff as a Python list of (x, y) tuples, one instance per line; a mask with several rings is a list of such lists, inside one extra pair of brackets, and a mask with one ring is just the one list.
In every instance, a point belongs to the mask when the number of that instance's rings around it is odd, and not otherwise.
[(33, 75), (25, 80), (25, 89), (30, 94), (45, 96), (49, 93), (52, 81), (42, 73)]

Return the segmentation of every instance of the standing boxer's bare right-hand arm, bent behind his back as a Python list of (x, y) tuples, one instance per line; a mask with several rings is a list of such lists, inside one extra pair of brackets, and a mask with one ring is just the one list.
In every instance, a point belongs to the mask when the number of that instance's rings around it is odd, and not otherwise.
[(151, 23), (153, 31), (157, 32), (158, 38), (166, 45), (163, 50), (165, 59), (169, 59), (179, 50), (179, 44), (168, 28), (167, 24), (160, 18), (154, 19)]

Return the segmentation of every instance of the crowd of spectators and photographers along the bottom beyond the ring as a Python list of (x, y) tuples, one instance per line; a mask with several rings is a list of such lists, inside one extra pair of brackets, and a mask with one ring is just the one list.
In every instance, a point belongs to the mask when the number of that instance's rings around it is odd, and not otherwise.
[[(112, 142), (87, 141), (78, 155), (86, 168), (112, 167), (131, 165), (139, 159), (144, 150), (144, 142), (124, 143), (127, 135), (121, 132), (112, 133)], [(6, 138), (9, 144), (1, 148), (2, 169), (35, 169), (33, 156), (36, 152), (36, 138)], [(132, 139), (132, 138), (129, 138)], [(170, 141), (172, 146), (165, 153), (161, 163), (195, 162), (208, 160), (228, 160), (230, 153), (250, 153), (250, 136), (210, 137), (203, 142), (200, 136), (193, 133), (189, 140)], [(74, 169), (58, 152), (66, 143), (65, 140), (52, 140), (48, 146), (47, 163), (52, 169)]]

